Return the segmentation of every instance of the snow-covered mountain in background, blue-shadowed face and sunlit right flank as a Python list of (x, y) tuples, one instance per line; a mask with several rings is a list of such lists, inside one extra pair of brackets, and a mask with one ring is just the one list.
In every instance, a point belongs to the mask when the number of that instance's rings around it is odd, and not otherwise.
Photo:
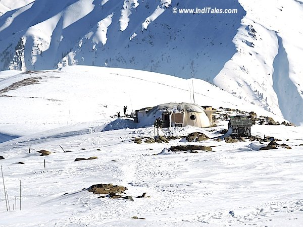
[[(36, 0), (0, 18), (0, 70), (92, 65), (194, 77), (300, 124), (302, 3)], [(205, 7), (237, 13), (173, 13)]]

